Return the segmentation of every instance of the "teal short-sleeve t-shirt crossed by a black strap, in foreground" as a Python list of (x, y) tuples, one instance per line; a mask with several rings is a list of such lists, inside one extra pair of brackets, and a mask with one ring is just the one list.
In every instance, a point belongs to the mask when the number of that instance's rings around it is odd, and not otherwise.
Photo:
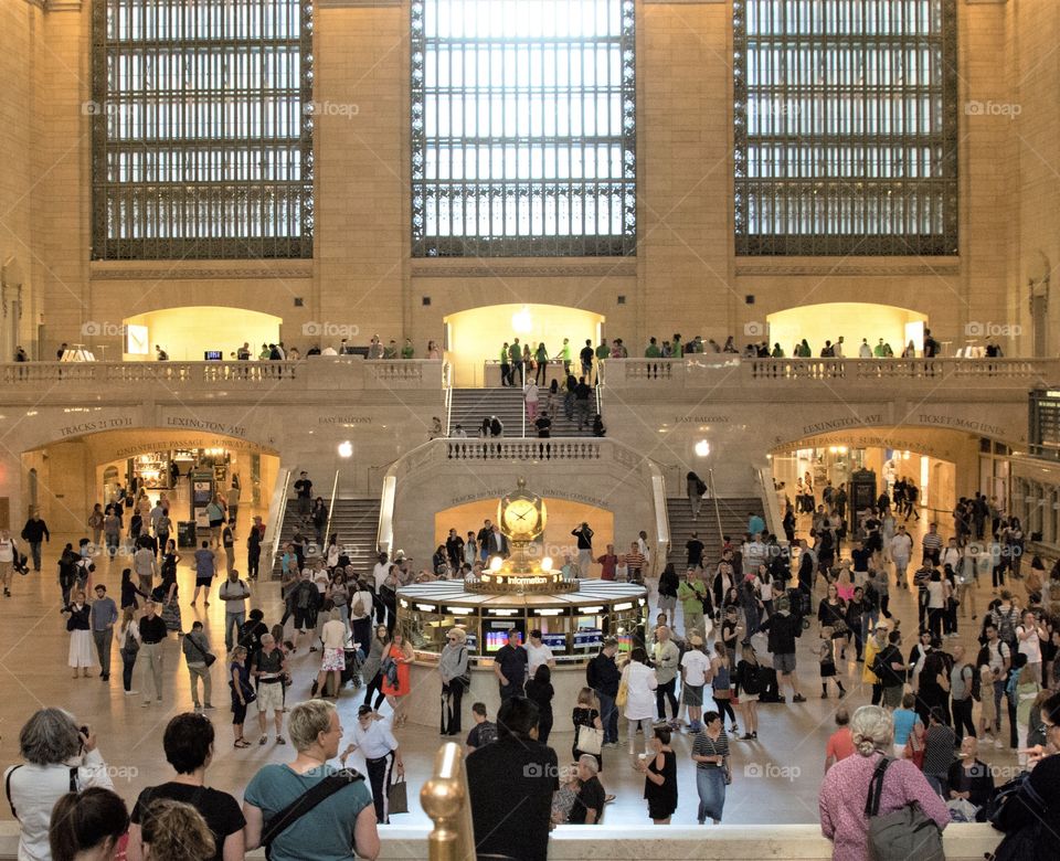
[[(264, 823), (307, 793), (335, 768), (325, 765), (296, 774), (286, 765), (264, 766), (246, 787), (243, 799), (261, 809)], [(304, 861), (312, 847), (314, 861), (353, 861), (353, 829), (357, 817), (372, 805), (363, 780), (350, 784), (295, 821), (273, 841), (272, 861)]]

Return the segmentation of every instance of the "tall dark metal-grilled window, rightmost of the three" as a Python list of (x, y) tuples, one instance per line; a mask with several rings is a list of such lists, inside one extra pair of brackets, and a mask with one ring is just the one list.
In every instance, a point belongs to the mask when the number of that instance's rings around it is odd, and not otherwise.
[(956, 0), (733, 0), (735, 253), (954, 256)]

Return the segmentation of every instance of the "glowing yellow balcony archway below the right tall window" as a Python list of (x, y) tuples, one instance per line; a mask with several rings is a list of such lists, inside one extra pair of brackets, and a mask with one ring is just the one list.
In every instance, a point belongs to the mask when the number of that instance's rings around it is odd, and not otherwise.
[(804, 338), (813, 355), (819, 355), (825, 341), (844, 339), (844, 355), (858, 357), (861, 340), (876, 347), (882, 338), (894, 355), (913, 342), (918, 350), (924, 347), (926, 315), (893, 305), (869, 302), (828, 302), (788, 308), (766, 317), (770, 344), (780, 343), (785, 355), (793, 354), (795, 343)]

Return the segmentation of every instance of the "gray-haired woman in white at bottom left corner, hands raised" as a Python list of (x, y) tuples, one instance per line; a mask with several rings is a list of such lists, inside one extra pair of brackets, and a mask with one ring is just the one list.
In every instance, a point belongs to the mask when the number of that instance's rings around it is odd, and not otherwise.
[(19, 734), (24, 765), (4, 774), (11, 808), (21, 826), (19, 861), (50, 859), (49, 827), (52, 808), (67, 793), (91, 786), (113, 789), (107, 765), (96, 748), (96, 735), (77, 726), (63, 709), (41, 709)]

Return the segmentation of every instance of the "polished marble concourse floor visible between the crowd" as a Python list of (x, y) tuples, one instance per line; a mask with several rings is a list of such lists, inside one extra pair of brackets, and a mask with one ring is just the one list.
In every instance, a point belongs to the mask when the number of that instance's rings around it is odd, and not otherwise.
[[(241, 512), (250, 517), (251, 511)], [(924, 521), (921, 521), (922, 523)], [(945, 521), (941, 521), (945, 522)], [(945, 529), (942, 530), (945, 532)], [(242, 539), (245, 529), (240, 533)], [(161, 750), (161, 736), (167, 721), (183, 710), (191, 708), (189, 682), (180, 647), (176, 637), (166, 644), (165, 702), (150, 708), (140, 706), (139, 697), (125, 697), (120, 683), (120, 658), (115, 653), (114, 674), (106, 684), (93, 673), (88, 679), (71, 679), (66, 667), (67, 634), (64, 619), (60, 615), (60, 596), (55, 577), (55, 562), (64, 541), (76, 542), (78, 536), (54, 535), (45, 545), (44, 565), (41, 573), (30, 573), (25, 577), (15, 577), (13, 596), (0, 598), (0, 679), (3, 697), (0, 698), (0, 761), (4, 764), (19, 761), (18, 735), (25, 719), (43, 705), (62, 705), (97, 732), (99, 748), (113, 769), (117, 790), (128, 799), (135, 799), (145, 786), (168, 779), (170, 769)], [(919, 540), (918, 540), (919, 543)], [(237, 567), (245, 562), (242, 541), (237, 546)], [(186, 629), (194, 619), (201, 619), (215, 649), (223, 655), (223, 608), (220, 600), (210, 607), (189, 606), (193, 591), (193, 575), (188, 565), (190, 554), (180, 566), (181, 604)], [(112, 595), (118, 592), (121, 567), (120, 561), (102, 561), (96, 573), (98, 580), (107, 584)], [(979, 586), (978, 606), (982, 610), (990, 597), (989, 585)], [(282, 614), (278, 586), (275, 583), (259, 583), (254, 588), (252, 606), (265, 612), (265, 619), (273, 624)], [(916, 627), (914, 595), (908, 591), (891, 588), (892, 612), (902, 620), (902, 628), (913, 631)], [(680, 623), (678, 623), (680, 627)], [(978, 625), (969, 618), (962, 620), (962, 640), (971, 642)], [(808, 634), (813, 635), (814, 629)], [(813, 822), (817, 820), (817, 789), (823, 772), (824, 750), (828, 735), (834, 730), (834, 715), (840, 702), (836, 699), (822, 700), (817, 678), (817, 665), (809, 653), (815, 641), (813, 636), (804, 636), (799, 644), (799, 677), (803, 691), (808, 697), (804, 704), (761, 704), (759, 741), (754, 743), (733, 743), (733, 784), (729, 787), (725, 804), (725, 822), (773, 823), (773, 822)], [(908, 645), (907, 645), (908, 648)], [(849, 662), (840, 667), (840, 673), (850, 691), (842, 704), (852, 708), (868, 701), (870, 691), (860, 684), (861, 665), (852, 661), (854, 649), (848, 650)], [(319, 667), (319, 655), (299, 649), (292, 660), (295, 684), (288, 692), (289, 701), (295, 702), (308, 697), (309, 685)], [(233, 750), (231, 745), (231, 713), (229, 692), (219, 667), (213, 671), (213, 702), (218, 706), (211, 712), (218, 730), (216, 755), (210, 769), (209, 783), (221, 789), (242, 797), (242, 788), (253, 774), (265, 763), (283, 762), (292, 757), (292, 748), (277, 747), (269, 743), (247, 750)], [(137, 674), (135, 687), (140, 687)], [(357, 706), (361, 695), (344, 691), (339, 700), (339, 710), (347, 726), (356, 720)], [(465, 704), (467, 708), (469, 704)], [(555, 703), (556, 710), (570, 708), (569, 703)], [(386, 708), (385, 705), (383, 706)], [(465, 720), (469, 716), (465, 713)], [(253, 706), (247, 721), (248, 737), (256, 737), (253, 729), (256, 722)], [(622, 729), (623, 736), (625, 727)], [(395, 823), (415, 825), (426, 822), (418, 809), (418, 791), (427, 778), (433, 754), (441, 740), (436, 733), (424, 727), (407, 725), (399, 731), (410, 784), (410, 801), (413, 812), (395, 818)], [(550, 744), (560, 754), (560, 762), (569, 758), (572, 734), (558, 733)], [(624, 740), (623, 740), (624, 742)], [(696, 784), (693, 767), (688, 758), (691, 751), (691, 737), (679, 735), (675, 740), (678, 752), (680, 806), (674, 817), (675, 822), (695, 823)], [(996, 765), (1004, 777), (1015, 769), (1015, 756), (1008, 750), (996, 751), (993, 747), (983, 752), (984, 758)], [(353, 757), (354, 767), (363, 767)], [(617, 799), (608, 807), (611, 821), (622, 820), (647, 822), (646, 808), (642, 800), (643, 777), (637, 775), (625, 753), (625, 744), (617, 750), (608, 750), (604, 756), (602, 774), (607, 790), (616, 794)], [(1007, 779), (1007, 778), (1006, 778)], [(2, 816), (10, 818), (7, 806)]]

